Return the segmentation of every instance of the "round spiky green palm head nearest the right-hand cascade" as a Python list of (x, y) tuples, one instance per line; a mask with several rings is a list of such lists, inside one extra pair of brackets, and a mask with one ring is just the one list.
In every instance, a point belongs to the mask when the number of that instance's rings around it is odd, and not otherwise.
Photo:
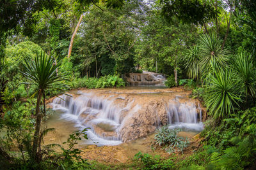
[(234, 80), (232, 71), (214, 71), (208, 76), (209, 82), (205, 85), (205, 106), (209, 115), (213, 117), (225, 117), (234, 111), (241, 101), (241, 90), (238, 81)]

